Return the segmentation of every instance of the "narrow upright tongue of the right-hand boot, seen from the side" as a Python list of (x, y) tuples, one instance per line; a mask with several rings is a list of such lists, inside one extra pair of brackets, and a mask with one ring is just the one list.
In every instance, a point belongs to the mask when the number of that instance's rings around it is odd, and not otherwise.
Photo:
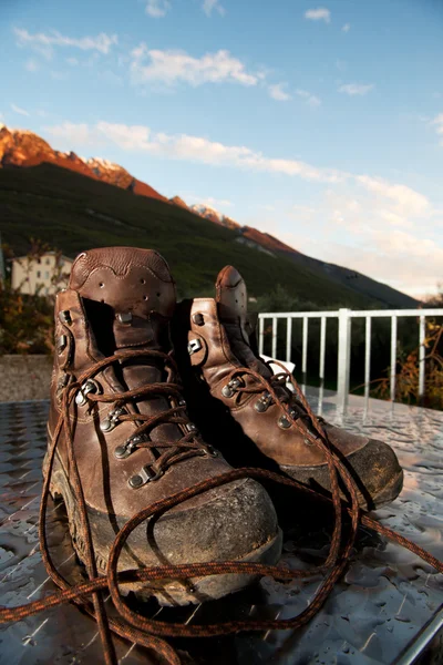
[(241, 275), (233, 266), (219, 272), (216, 284), (218, 317), (224, 325), (234, 355), (247, 367), (269, 379), (271, 370), (254, 354), (247, 331), (248, 291)]

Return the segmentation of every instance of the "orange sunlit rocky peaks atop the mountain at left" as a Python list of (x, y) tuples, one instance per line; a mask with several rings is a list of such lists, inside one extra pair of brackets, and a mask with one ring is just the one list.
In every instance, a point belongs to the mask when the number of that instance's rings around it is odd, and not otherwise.
[(167, 201), (119, 164), (100, 157), (83, 160), (74, 152), (64, 153), (53, 150), (43, 139), (27, 130), (9, 130), (6, 125), (0, 127), (0, 167), (37, 166), (44, 162), (130, 190), (133, 194)]

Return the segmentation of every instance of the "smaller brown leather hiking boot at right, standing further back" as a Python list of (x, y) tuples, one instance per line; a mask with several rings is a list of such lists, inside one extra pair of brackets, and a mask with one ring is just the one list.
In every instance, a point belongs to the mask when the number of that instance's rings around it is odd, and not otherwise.
[[(189, 412), (233, 466), (280, 469), (330, 491), (324, 453), (309, 439), (319, 434), (311, 417), (289, 390), (288, 377), (274, 375), (253, 350), (250, 332), (246, 285), (231, 266), (218, 275), (215, 300), (196, 298), (178, 306), (174, 345)], [(371, 510), (393, 501), (403, 484), (393, 450), (319, 420), (357, 483), (360, 505)]]

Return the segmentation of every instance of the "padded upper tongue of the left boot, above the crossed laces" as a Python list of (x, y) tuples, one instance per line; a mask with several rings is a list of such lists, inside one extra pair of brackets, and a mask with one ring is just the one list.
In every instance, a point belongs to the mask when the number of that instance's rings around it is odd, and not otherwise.
[(161, 347), (176, 298), (168, 266), (156, 252), (133, 247), (84, 252), (72, 266), (70, 288), (92, 303), (99, 317), (102, 310), (104, 318), (113, 319), (114, 348)]

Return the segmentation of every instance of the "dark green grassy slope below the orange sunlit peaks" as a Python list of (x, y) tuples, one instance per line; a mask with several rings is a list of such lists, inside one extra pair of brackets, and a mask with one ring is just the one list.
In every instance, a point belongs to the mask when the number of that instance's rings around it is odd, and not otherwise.
[(69, 256), (100, 246), (152, 247), (169, 263), (181, 296), (213, 295), (218, 270), (230, 263), (250, 295), (280, 284), (322, 307), (379, 305), (290, 259), (236, 243), (236, 231), (51, 164), (0, 170), (0, 229), (16, 254), (27, 253), (31, 236)]

